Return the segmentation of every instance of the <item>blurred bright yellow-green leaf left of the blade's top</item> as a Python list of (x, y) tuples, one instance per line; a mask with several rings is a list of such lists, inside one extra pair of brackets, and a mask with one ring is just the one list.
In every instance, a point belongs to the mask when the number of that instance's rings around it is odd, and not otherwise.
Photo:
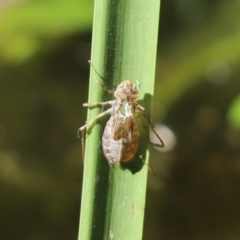
[(1, 12), (0, 60), (28, 60), (47, 40), (89, 31), (93, 1), (24, 1)]

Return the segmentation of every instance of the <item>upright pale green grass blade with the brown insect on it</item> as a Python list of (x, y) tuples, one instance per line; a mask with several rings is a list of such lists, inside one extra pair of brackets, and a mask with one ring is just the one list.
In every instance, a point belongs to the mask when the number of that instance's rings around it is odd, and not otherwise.
[[(160, 0), (96, 0), (91, 61), (99, 81), (114, 89), (123, 80), (140, 82), (141, 104), (150, 110), (154, 89)], [(110, 97), (91, 71), (89, 102)], [(88, 121), (102, 111), (88, 111)], [(105, 119), (106, 120), (106, 119)], [(105, 121), (88, 131), (79, 240), (142, 239), (148, 168), (147, 137), (127, 169), (110, 166), (101, 148)]]

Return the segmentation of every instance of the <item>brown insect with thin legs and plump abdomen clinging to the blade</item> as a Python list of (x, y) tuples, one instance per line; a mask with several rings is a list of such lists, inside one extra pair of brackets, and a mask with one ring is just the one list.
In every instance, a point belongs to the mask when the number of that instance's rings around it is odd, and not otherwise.
[[(96, 120), (108, 114), (110, 114), (111, 117), (108, 120), (103, 132), (102, 147), (103, 153), (109, 163), (122, 165), (131, 161), (136, 155), (139, 146), (139, 131), (136, 124), (137, 120), (140, 121), (140, 123), (144, 127), (150, 144), (157, 147), (164, 147), (162, 139), (154, 130), (154, 126), (150, 121), (149, 114), (146, 112), (143, 106), (137, 103), (137, 98), (139, 96), (139, 83), (137, 83), (138, 86), (135, 86), (131, 81), (125, 80), (118, 85), (115, 91), (109, 90), (98, 81), (96, 69), (94, 68), (91, 61), (89, 61), (89, 63), (94, 70), (95, 78), (99, 85), (109, 93), (113, 93), (116, 99), (106, 102), (98, 102), (94, 104), (83, 104), (84, 107), (98, 107), (105, 105), (111, 106), (111, 108), (100, 113), (94, 119), (79, 128), (79, 130), (82, 132), (83, 150), (85, 129), (88, 126), (92, 125)], [(159, 139), (160, 144), (151, 142), (147, 132), (147, 127), (138, 116), (138, 113), (141, 113), (147, 120), (151, 130)]]

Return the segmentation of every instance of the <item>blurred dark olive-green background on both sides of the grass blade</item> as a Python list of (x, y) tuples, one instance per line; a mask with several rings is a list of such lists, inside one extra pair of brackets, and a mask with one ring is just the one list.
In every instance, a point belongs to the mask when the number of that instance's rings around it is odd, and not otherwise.
[[(166, 148), (151, 148), (144, 239), (240, 239), (239, 12), (162, 1), (152, 118)], [(0, 239), (77, 239), (92, 15), (90, 0), (0, 2)]]

